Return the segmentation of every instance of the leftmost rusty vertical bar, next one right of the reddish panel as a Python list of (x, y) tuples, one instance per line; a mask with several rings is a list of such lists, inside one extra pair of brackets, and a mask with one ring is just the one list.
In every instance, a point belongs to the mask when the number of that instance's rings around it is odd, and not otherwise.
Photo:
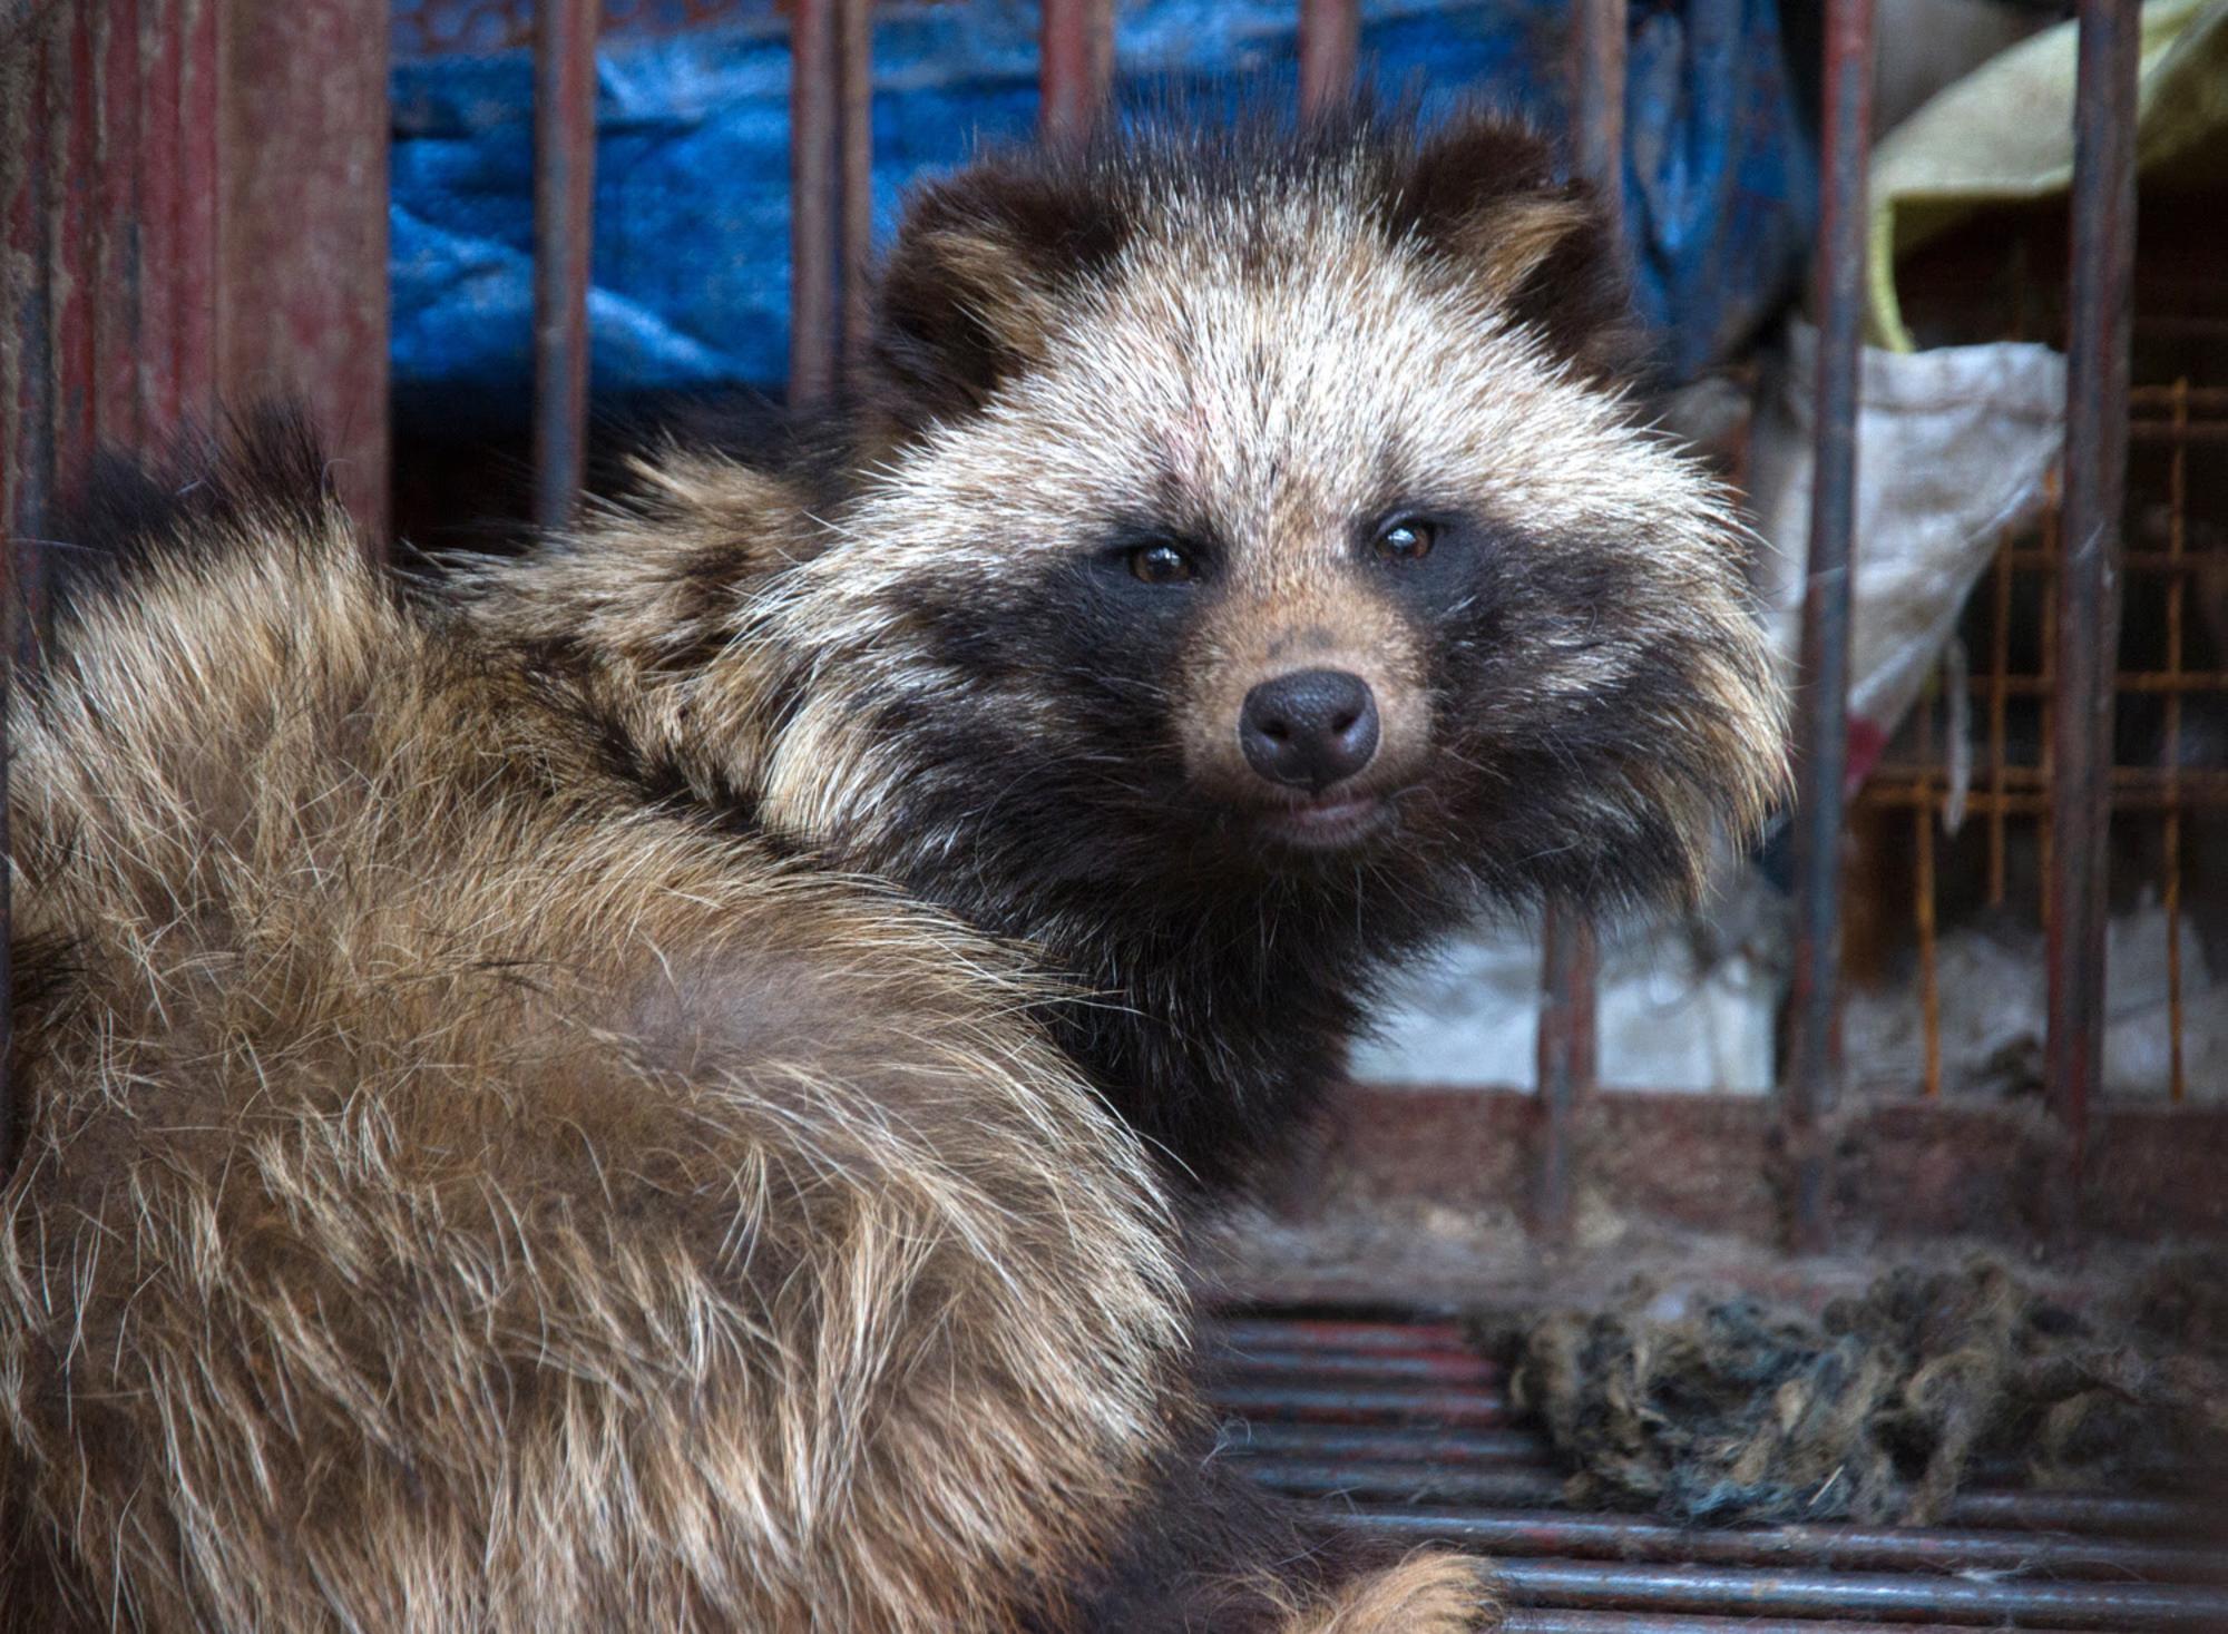
[(535, 4), (535, 523), (579, 505), (588, 454), (599, 0)]

